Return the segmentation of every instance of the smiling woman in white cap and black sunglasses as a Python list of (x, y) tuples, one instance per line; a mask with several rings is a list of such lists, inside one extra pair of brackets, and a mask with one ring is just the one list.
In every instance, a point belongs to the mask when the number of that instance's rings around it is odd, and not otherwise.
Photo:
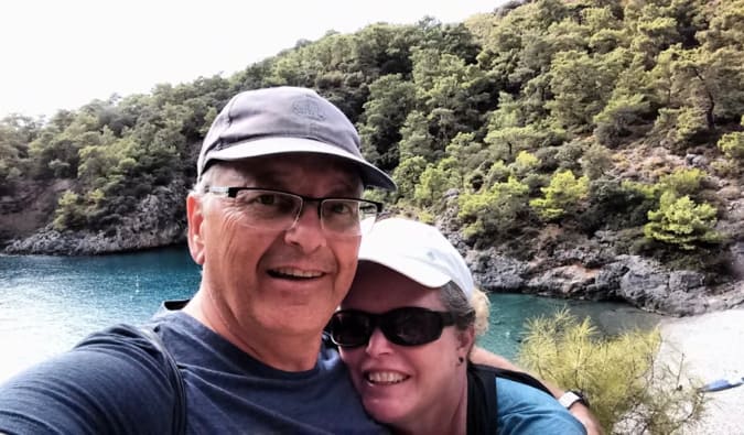
[(396, 432), (486, 433), (496, 423), (504, 434), (583, 434), (552, 396), (524, 383), (497, 378), (497, 406), (486, 407), (493, 385), (478, 388), (467, 357), (487, 312), (444, 236), (391, 218), (364, 237), (352, 290), (330, 329), (365, 409)]

